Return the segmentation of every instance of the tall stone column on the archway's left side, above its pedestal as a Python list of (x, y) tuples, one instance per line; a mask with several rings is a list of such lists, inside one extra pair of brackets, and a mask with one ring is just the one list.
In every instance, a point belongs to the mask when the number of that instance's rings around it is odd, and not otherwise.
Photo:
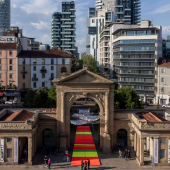
[(61, 133), (65, 134), (65, 93), (61, 93)]

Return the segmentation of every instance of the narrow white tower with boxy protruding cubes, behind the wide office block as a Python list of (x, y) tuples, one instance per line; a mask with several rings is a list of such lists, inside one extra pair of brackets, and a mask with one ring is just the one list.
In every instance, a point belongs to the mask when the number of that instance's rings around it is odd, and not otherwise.
[(92, 55), (99, 65), (99, 41), (102, 28), (109, 23), (116, 22), (116, 15), (112, 11), (97, 11), (96, 7), (90, 7), (86, 26), (88, 33), (86, 35), (86, 54)]

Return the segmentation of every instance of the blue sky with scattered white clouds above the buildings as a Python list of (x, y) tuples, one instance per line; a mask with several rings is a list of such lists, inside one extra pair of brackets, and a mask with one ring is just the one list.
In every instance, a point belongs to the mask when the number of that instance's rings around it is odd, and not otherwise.
[[(11, 26), (23, 29), (23, 35), (51, 45), (51, 18), (53, 12), (61, 12), (63, 0), (11, 0)], [(65, 0), (71, 1), (71, 0)], [(76, 4), (76, 46), (79, 52), (86, 50), (86, 18), (88, 8), (96, 0), (74, 0)], [(162, 26), (163, 38), (170, 35), (170, 0), (141, 0), (141, 19), (151, 20)]]

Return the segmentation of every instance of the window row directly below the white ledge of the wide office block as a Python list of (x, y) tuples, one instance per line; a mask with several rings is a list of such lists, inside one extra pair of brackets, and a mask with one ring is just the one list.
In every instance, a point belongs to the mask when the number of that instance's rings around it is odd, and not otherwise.
[(120, 41), (116, 41), (114, 43), (114, 46), (115, 45), (118, 45), (118, 44), (136, 44), (136, 43), (155, 43), (155, 40), (154, 39), (140, 39), (140, 40), (120, 40)]

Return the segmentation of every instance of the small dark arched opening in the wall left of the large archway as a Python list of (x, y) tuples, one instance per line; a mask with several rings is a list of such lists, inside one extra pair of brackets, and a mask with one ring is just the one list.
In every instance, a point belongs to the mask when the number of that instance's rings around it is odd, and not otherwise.
[(51, 129), (45, 129), (43, 131), (43, 145), (47, 147), (54, 145), (54, 134)]

